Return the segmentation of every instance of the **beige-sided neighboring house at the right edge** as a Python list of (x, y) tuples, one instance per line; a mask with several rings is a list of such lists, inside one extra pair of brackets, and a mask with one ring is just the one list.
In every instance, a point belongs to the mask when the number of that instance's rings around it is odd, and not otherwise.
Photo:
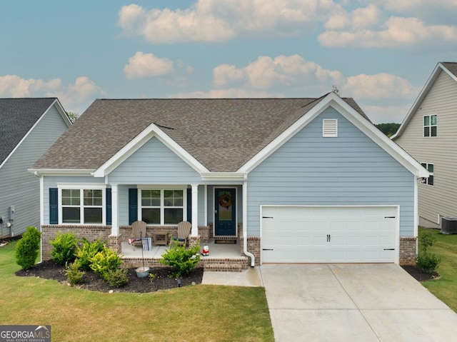
[(457, 63), (441, 62), (406, 115), (393, 141), (431, 176), (418, 186), (419, 225), (440, 228), (457, 216)]

